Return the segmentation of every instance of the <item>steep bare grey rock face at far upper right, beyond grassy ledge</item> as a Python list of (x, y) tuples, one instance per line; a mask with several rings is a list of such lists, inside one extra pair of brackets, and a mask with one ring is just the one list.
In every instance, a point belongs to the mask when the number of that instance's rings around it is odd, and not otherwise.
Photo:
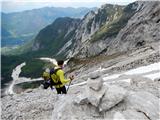
[(160, 41), (160, 2), (137, 2), (139, 10), (119, 32), (109, 47), (108, 54), (127, 51), (143, 46), (154, 47), (151, 43)]

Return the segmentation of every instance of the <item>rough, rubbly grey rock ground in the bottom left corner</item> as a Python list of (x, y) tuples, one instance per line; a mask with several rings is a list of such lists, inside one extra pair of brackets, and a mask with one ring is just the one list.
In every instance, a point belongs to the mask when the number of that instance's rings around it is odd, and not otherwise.
[(2, 120), (51, 119), (55, 96), (52, 91), (34, 90), (2, 99)]

